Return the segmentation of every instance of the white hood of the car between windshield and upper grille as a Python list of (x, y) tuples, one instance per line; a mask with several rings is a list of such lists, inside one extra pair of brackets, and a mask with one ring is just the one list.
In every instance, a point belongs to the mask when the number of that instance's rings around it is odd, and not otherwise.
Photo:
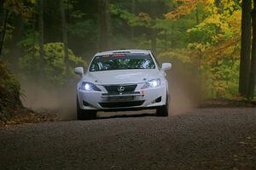
[(160, 77), (160, 71), (156, 69), (95, 71), (88, 72), (83, 81), (96, 84), (127, 84), (147, 82), (158, 77)]

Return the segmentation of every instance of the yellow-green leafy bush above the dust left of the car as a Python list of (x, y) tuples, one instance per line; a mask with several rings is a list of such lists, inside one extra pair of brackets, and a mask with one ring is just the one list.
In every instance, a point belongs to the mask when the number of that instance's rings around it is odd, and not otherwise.
[(27, 76), (36, 79), (39, 77), (38, 79), (40, 79), (42, 71), (45, 82), (61, 86), (73, 79), (73, 69), (76, 66), (86, 66), (86, 63), (69, 49), (68, 65), (65, 65), (63, 43), (51, 42), (44, 44), (44, 64), (42, 68), (39, 62), (38, 45), (26, 51), (26, 55), (20, 58), (19, 65)]

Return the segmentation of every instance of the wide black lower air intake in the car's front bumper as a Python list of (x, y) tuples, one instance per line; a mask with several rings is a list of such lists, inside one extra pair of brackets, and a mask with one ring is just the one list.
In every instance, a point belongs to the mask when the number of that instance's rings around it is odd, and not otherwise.
[(145, 100), (129, 101), (129, 102), (108, 102), (99, 103), (104, 108), (121, 108), (121, 107), (133, 107), (143, 105)]

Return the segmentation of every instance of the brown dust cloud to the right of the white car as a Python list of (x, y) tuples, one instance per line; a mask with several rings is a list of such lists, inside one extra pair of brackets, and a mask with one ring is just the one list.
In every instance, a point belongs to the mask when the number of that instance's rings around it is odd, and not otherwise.
[(177, 60), (164, 59), (161, 62), (172, 63), (172, 69), (166, 71), (172, 116), (184, 114), (198, 107), (201, 101), (201, 88), (197, 68), (188, 67)]

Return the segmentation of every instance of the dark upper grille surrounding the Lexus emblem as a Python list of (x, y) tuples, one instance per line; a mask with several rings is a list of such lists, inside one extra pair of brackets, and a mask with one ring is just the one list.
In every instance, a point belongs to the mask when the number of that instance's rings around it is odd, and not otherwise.
[[(124, 91), (120, 92), (119, 88), (123, 87), (125, 88)], [(108, 94), (131, 94), (131, 92), (134, 92), (134, 90), (137, 88), (137, 84), (131, 84), (131, 85), (106, 85), (104, 86), (106, 90), (108, 91)]]

